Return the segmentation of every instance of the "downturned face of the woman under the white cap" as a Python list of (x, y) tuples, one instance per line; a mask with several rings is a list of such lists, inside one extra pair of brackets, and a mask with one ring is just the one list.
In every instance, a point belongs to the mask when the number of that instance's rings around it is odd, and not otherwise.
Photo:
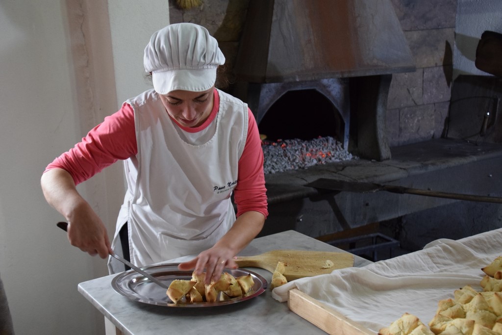
[(213, 87), (202, 92), (176, 90), (159, 96), (171, 118), (184, 127), (194, 128), (211, 114), (213, 90)]

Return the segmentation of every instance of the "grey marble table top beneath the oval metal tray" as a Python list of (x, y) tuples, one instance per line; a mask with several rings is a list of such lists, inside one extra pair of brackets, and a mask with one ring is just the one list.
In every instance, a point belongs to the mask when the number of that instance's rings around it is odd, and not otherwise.
[[(287, 231), (257, 238), (239, 255), (252, 256), (276, 249), (342, 251), (298, 232)], [(370, 263), (354, 256), (356, 267)], [(258, 268), (249, 270), (260, 274), (270, 284), (272, 273)], [(115, 276), (109, 275), (80, 283), (78, 291), (124, 334), (325, 333), (290, 311), (287, 303), (275, 300), (270, 289), (253, 299), (234, 304), (208, 308), (176, 308), (150, 305), (120, 295), (111, 286)]]

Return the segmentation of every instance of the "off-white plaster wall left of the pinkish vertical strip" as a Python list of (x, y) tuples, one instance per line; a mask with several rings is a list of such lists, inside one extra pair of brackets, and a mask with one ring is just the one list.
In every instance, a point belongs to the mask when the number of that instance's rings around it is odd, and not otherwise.
[(76, 291), (92, 260), (68, 248), (40, 189), (45, 165), (80, 135), (64, 11), (58, 1), (0, 2), (0, 274), (20, 334), (94, 330)]

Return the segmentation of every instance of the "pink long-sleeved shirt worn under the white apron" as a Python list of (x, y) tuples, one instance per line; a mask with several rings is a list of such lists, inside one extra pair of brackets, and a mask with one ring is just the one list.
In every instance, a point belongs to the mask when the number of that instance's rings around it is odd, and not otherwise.
[[(214, 90), (214, 105), (208, 122), (197, 129), (206, 128), (218, 113), (219, 96)], [(179, 124), (181, 129), (193, 132)], [(79, 184), (117, 160), (125, 160), (138, 154), (134, 111), (131, 105), (124, 103), (114, 114), (94, 127), (81, 142), (57, 157), (44, 172), (61, 168), (66, 170)], [(263, 152), (255, 117), (248, 109), (247, 138), (239, 159), (238, 181), (234, 200), (239, 216), (243, 212), (254, 210), (268, 216), (265, 176), (263, 173)]]

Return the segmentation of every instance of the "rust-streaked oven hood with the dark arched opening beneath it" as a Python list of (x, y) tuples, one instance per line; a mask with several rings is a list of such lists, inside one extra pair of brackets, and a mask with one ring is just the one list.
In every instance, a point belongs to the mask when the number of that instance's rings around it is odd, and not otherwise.
[(265, 135), (333, 136), (356, 155), (381, 161), (391, 156), (391, 75), (414, 69), (390, 1), (255, 0), (234, 73)]

